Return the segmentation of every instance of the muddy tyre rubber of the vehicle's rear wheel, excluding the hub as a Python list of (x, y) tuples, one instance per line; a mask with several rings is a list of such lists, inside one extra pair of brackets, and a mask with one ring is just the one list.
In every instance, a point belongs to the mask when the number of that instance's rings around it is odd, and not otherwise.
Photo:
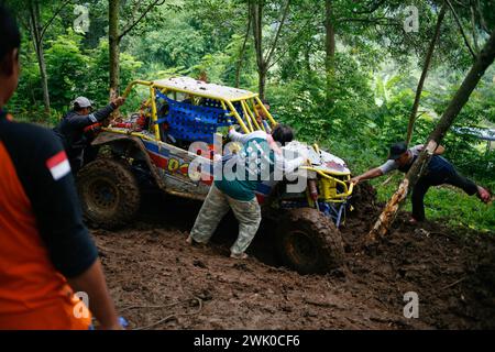
[[(85, 187), (89, 186), (95, 178), (109, 177), (120, 194), (121, 201), (118, 210), (105, 215), (88, 209), (85, 201)], [(136, 178), (125, 161), (112, 158), (98, 158), (84, 168), (77, 175), (77, 189), (81, 200), (82, 213), (86, 222), (92, 228), (114, 230), (131, 222), (138, 213), (141, 205), (141, 191)]]

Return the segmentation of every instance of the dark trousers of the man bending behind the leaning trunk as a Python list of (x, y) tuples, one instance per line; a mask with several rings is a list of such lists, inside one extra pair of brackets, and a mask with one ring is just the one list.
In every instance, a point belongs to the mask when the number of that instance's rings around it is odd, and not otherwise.
[(411, 196), (413, 217), (416, 220), (425, 220), (425, 195), (431, 186), (439, 185), (455, 186), (470, 196), (477, 194), (476, 184), (462, 176), (457, 170), (432, 173), (432, 175), (422, 176), (416, 184)]

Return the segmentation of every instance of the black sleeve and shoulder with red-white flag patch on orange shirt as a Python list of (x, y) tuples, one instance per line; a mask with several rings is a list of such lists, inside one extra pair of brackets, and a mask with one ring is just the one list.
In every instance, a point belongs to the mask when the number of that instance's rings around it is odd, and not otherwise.
[(52, 131), (11, 122), (6, 116), (0, 110), (0, 143), (31, 202), (50, 258), (64, 276), (78, 276), (95, 263), (98, 252), (82, 222), (70, 169), (61, 164), (66, 160), (64, 148)]

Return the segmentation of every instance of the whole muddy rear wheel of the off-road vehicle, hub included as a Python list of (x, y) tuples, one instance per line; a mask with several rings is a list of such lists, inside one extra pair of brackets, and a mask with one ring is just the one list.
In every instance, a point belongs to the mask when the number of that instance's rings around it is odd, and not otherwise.
[(140, 208), (140, 187), (125, 162), (101, 158), (89, 163), (77, 175), (77, 189), (90, 227), (123, 227)]

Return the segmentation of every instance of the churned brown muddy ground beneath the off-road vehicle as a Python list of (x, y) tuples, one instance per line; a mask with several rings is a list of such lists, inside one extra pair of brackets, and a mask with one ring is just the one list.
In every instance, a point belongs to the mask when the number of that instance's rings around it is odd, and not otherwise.
[[(346, 273), (299, 275), (280, 267), (270, 233), (234, 261), (230, 217), (207, 248), (185, 239), (200, 204), (148, 195), (121, 231), (94, 230), (111, 294), (133, 329), (495, 329), (495, 235), (419, 228), (400, 213), (372, 248), (363, 238), (380, 212), (373, 190), (341, 228)], [(419, 318), (404, 317), (404, 295)]]

